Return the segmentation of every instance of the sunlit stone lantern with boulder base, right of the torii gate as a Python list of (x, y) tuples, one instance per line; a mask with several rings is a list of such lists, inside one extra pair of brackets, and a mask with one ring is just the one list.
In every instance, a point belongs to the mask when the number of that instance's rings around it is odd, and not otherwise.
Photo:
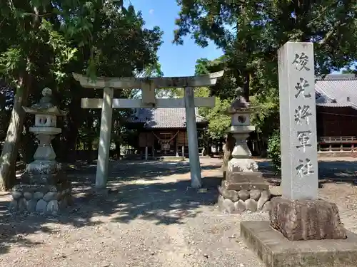
[(228, 213), (267, 211), (271, 197), (269, 187), (262, 173), (258, 172), (258, 164), (251, 158), (246, 142), (249, 132), (255, 130), (250, 115), (258, 112), (258, 107), (251, 107), (243, 96), (239, 96), (227, 112), (231, 115), (228, 132), (236, 139), (236, 145), (226, 168), (225, 179), (218, 187), (218, 206)]

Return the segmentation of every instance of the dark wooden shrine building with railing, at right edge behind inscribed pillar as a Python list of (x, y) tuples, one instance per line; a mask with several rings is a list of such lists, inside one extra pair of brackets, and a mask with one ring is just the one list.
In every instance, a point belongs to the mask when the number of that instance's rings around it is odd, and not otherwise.
[(351, 154), (357, 147), (356, 75), (316, 78), (315, 90), (318, 151), (322, 155)]

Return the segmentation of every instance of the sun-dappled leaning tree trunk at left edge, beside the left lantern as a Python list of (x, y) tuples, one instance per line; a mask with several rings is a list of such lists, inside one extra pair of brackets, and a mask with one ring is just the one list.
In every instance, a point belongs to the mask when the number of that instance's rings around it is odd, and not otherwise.
[[(14, 185), (16, 176), (16, 158), (21, 133), (24, 127), (25, 112), (22, 109), (26, 105), (29, 88), (21, 86), (16, 90), (14, 108), (11, 112), (9, 127), (7, 129), (4, 147), (0, 158), (0, 189), (9, 190)], [(11, 169), (11, 167), (13, 169)]]

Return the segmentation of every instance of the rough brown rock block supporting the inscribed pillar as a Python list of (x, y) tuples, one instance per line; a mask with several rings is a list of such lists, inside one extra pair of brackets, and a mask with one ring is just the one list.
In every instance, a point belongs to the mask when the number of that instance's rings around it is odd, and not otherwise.
[(336, 204), (323, 200), (271, 200), (271, 227), (289, 241), (346, 239)]

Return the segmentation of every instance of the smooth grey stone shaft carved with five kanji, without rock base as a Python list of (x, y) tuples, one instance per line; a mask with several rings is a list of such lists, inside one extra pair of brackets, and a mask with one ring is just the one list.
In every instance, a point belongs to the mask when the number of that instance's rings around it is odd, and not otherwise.
[(313, 43), (288, 42), (278, 51), (281, 187), (287, 199), (318, 197)]

